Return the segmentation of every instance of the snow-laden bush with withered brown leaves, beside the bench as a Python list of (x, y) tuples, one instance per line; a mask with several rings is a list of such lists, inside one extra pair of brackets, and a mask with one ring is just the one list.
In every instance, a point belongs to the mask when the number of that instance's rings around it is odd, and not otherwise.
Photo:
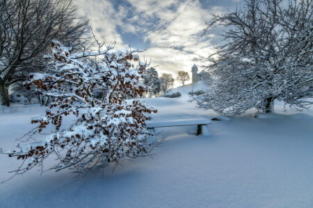
[[(31, 120), (37, 127), (28, 135), (42, 132), (47, 125), (54, 130), (43, 141), (1, 152), (23, 160), (15, 173), (42, 166), (49, 155), (58, 159), (50, 169), (86, 173), (95, 166), (150, 154), (155, 144), (148, 142), (152, 134), (145, 122), (157, 110), (140, 100), (125, 100), (146, 92), (142, 79), (147, 64), (139, 62), (139, 51), (112, 52), (113, 45), (105, 50), (100, 50), (104, 44), (98, 46), (97, 51), (71, 54), (59, 42), (51, 43), (53, 54), (46, 58), (54, 61), (57, 72), (32, 73), (25, 85), (34, 85), (38, 93), (54, 98), (45, 115)], [(70, 114), (76, 119), (64, 128), (63, 117)]]

